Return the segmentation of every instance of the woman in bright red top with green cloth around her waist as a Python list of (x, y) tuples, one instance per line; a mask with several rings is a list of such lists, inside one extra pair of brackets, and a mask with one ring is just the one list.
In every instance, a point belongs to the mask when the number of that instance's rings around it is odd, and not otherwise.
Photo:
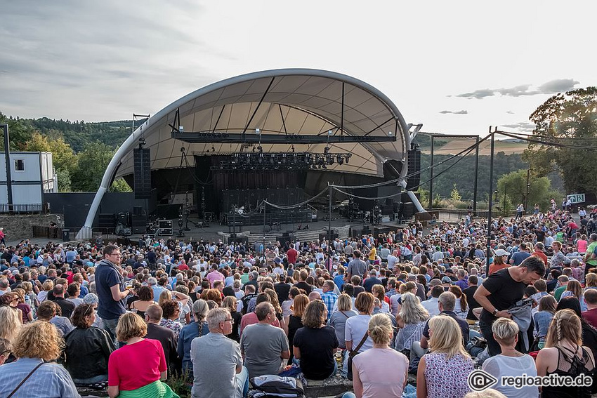
[(126, 345), (112, 352), (108, 361), (110, 398), (178, 397), (166, 383), (166, 357), (162, 343), (144, 338), (147, 324), (137, 314), (127, 312), (118, 319), (116, 336)]

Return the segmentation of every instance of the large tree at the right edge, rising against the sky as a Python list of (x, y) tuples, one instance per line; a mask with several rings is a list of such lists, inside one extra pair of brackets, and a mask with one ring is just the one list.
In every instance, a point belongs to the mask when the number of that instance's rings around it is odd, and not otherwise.
[[(535, 110), (529, 118), (537, 127), (534, 135), (551, 138), (568, 138), (554, 142), (594, 145), (597, 137), (597, 88), (579, 88), (565, 94), (553, 95)], [(570, 138), (579, 138), (570, 140)], [(537, 175), (546, 175), (558, 168), (564, 180), (566, 192), (596, 192), (597, 178), (593, 166), (597, 163), (597, 151), (551, 147), (534, 142), (523, 154)]]

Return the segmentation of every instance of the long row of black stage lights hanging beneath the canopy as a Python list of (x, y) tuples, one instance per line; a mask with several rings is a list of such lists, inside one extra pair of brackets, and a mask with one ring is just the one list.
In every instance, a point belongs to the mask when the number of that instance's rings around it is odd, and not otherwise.
[(327, 169), (327, 166), (348, 164), (350, 153), (331, 153), (329, 148), (322, 154), (313, 152), (228, 152), (219, 153), (216, 166), (212, 170), (308, 170), (310, 168)]

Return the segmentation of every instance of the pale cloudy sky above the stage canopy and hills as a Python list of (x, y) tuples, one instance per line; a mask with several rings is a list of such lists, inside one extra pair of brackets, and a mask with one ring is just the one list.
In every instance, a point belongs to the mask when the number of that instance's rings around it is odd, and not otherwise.
[(0, 0), (0, 111), (107, 121), (206, 84), (328, 69), (435, 133), (529, 131), (550, 95), (596, 85), (596, 3)]

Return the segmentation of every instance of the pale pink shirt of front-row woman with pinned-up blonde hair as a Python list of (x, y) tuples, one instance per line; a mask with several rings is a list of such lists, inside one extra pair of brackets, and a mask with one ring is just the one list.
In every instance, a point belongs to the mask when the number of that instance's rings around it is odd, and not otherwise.
[(353, 359), (363, 398), (402, 397), (408, 359), (391, 348), (369, 348)]

